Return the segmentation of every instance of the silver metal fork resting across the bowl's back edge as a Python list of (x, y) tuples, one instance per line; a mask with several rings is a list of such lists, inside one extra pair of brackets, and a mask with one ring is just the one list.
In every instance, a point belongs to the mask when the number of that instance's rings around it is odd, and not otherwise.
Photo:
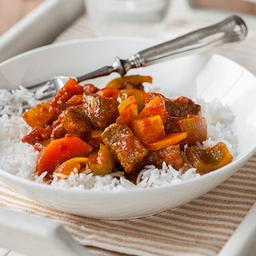
[[(91, 79), (106, 76), (113, 72), (117, 72), (121, 76), (127, 73), (128, 70), (149, 66), (154, 63), (165, 61), (167, 58), (174, 58), (184, 54), (191, 54), (210, 50), (214, 46), (227, 42), (238, 42), (246, 37), (247, 26), (242, 18), (233, 15), (226, 18), (222, 22), (218, 22), (212, 26), (194, 30), (181, 37), (174, 38), (168, 42), (163, 42), (157, 46), (142, 50), (137, 54), (133, 54), (128, 59), (114, 58), (111, 66), (103, 66), (98, 70), (94, 70), (88, 74), (84, 74), (77, 79), (78, 83)], [(41, 82), (34, 86), (29, 86), (27, 89), (36, 91), (42, 86), (49, 86), (45, 91), (44, 97), (38, 97), (38, 100), (54, 97), (57, 90), (60, 89), (68, 77), (56, 76), (49, 81)]]

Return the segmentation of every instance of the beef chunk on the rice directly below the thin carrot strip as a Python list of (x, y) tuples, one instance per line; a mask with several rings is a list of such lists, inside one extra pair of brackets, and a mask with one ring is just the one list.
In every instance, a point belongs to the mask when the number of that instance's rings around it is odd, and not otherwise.
[(147, 164), (162, 167), (162, 162), (171, 165), (174, 169), (179, 170), (183, 166), (183, 159), (179, 145), (167, 146), (165, 149), (150, 151), (146, 159)]

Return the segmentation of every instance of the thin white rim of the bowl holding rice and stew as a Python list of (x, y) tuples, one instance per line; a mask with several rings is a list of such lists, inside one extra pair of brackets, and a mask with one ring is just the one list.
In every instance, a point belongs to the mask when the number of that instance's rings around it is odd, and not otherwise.
[[(4, 62), (0, 63), (0, 68), (2, 66), (5, 66), (6, 64), (9, 64), (11, 62), (14, 62), (15, 60), (19, 59), (19, 58), (26, 58), (26, 56), (29, 56), (30, 54), (35, 54), (44, 50), (50, 50), (50, 49), (54, 49), (54, 48), (58, 48), (61, 46), (70, 46), (70, 45), (75, 45), (75, 44), (79, 44), (79, 43), (86, 43), (86, 42), (107, 42), (107, 41), (124, 41), (124, 40), (134, 40), (134, 41), (144, 41), (144, 42), (159, 42), (159, 39), (154, 39), (154, 38), (143, 38), (143, 37), (104, 37), (104, 38), (82, 38), (82, 39), (75, 39), (75, 40), (70, 40), (70, 41), (66, 41), (66, 42), (57, 42), (54, 44), (50, 44), (47, 46), (41, 46), (38, 48), (35, 48), (33, 50), (28, 50), (22, 54), (18, 54), (15, 55), (14, 57), (8, 58), (7, 60), (5, 60)], [(213, 54), (213, 56), (219, 56), (221, 58), (226, 58), (225, 56), (222, 56), (221, 54)], [(226, 58), (227, 60), (229, 60), (230, 62), (235, 63), (238, 66), (241, 66), (243, 69), (245, 69), (242, 65), (238, 64), (237, 62), (234, 62), (232, 59), (230, 58)], [(246, 69), (245, 69), (246, 70)], [(249, 74), (251, 74), (256, 81), (256, 77), (254, 76), (254, 74), (252, 74), (249, 70), (246, 70)], [(214, 170), (208, 174), (204, 174), (201, 175), (200, 177), (197, 178), (190, 178), (187, 180), (183, 180), (180, 183), (174, 183), (174, 184), (170, 184), (170, 185), (166, 185), (166, 186), (160, 186), (160, 187), (149, 187), (149, 188), (134, 188), (134, 189), (129, 189), (129, 190), (88, 190), (88, 189), (79, 189), (79, 188), (75, 188), (75, 187), (58, 187), (58, 186), (50, 186), (46, 183), (39, 183), (39, 182), (34, 182), (32, 180), (26, 179), (26, 178), (21, 178), (16, 176), (15, 174), (10, 174), (8, 172), (6, 172), (5, 170), (2, 170), (0, 167), (0, 178), (3, 176), (8, 180), (13, 180), (14, 182), (18, 182), (20, 183), (20, 185), (24, 185), (24, 187), (26, 186), (30, 186), (31, 188), (38, 188), (40, 187), (42, 190), (52, 190), (52, 191), (58, 191), (58, 193), (77, 193), (77, 194), (97, 194), (97, 195), (101, 195), (101, 194), (142, 194), (142, 193), (148, 193), (148, 192), (153, 192), (154, 191), (162, 191), (162, 190), (169, 190), (171, 187), (178, 187), (178, 186), (186, 186), (186, 184), (188, 183), (193, 183), (193, 182), (198, 182), (199, 180), (203, 180), (203, 179), (207, 179), (211, 176), (215, 176), (217, 175), (219, 172), (225, 171), (225, 169), (231, 169), (234, 168), (235, 166), (241, 166), (242, 162), (245, 162), (246, 160), (248, 160), (254, 153), (256, 152), (256, 144), (255, 146), (248, 152), (248, 154), (242, 155), (241, 158), (238, 159), (234, 159), (233, 162), (230, 162), (230, 164), (228, 164), (227, 166), (223, 166), (221, 168), (219, 168), (218, 170)], [(50, 191), (49, 191), (50, 192)]]

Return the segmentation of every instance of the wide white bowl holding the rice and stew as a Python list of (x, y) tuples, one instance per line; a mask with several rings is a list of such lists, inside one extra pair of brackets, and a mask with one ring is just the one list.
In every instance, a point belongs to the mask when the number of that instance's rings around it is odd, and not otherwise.
[[(105, 38), (66, 42), (32, 50), (0, 64), (0, 88), (31, 85), (56, 74), (76, 76), (126, 58), (154, 45), (142, 38)], [(194, 55), (163, 62), (131, 74), (149, 74), (154, 84), (173, 94), (218, 98), (235, 115), (233, 131), (238, 155), (229, 165), (181, 184), (127, 191), (55, 188), (0, 170), (2, 182), (46, 206), (91, 218), (136, 218), (180, 206), (205, 194), (234, 174), (256, 149), (256, 78), (242, 66), (219, 55)], [(104, 85), (110, 78), (94, 80)]]

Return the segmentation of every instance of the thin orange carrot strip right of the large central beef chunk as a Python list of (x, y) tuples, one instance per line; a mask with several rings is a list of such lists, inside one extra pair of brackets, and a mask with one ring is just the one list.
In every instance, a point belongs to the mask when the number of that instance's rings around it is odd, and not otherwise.
[(182, 141), (182, 139), (186, 138), (185, 133), (174, 133), (168, 134), (165, 138), (159, 139), (157, 142), (153, 142), (148, 144), (146, 147), (150, 151), (161, 150), (170, 145), (175, 145), (178, 142)]

